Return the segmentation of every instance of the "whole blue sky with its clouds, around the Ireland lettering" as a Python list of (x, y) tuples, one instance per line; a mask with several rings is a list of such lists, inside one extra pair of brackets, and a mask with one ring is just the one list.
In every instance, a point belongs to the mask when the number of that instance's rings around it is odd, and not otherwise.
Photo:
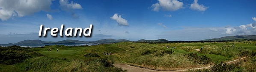
[[(255, 35), (255, 7), (256, 0), (0, 0), (0, 44), (27, 39), (193, 41)], [(89, 37), (38, 36), (40, 25), (93, 28)]]

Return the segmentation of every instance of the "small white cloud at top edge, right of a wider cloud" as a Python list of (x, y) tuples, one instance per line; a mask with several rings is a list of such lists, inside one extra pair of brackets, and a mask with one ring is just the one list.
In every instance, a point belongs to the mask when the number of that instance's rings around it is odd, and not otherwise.
[(198, 10), (198, 11), (205, 11), (208, 7), (206, 7), (206, 6), (203, 6), (202, 4), (201, 5), (199, 5), (198, 3), (197, 3), (197, 1), (198, 0), (194, 0), (194, 3), (192, 3), (191, 5), (190, 5), (190, 8), (191, 9), (193, 9), (193, 10)]

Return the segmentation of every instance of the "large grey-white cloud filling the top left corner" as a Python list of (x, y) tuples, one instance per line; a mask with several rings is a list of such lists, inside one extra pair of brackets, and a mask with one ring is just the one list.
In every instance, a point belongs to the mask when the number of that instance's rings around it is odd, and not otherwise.
[(39, 11), (51, 11), (52, 0), (0, 0), (0, 19), (24, 17)]

